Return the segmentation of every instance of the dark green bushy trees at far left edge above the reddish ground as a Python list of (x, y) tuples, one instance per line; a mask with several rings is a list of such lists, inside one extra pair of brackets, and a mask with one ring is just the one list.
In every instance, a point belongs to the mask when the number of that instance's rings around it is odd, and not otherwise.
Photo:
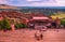
[(0, 29), (1, 30), (10, 30), (11, 29), (10, 22), (8, 20), (8, 18), (0, 20)]

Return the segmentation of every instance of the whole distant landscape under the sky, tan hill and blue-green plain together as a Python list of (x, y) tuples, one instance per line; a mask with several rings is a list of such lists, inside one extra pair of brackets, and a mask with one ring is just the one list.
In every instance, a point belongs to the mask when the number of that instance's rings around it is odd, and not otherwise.
[(22, 13), (35, 13), (53, 15), (57, 12), (65, 12), (65, 6), (12, 6), (8, 4), (0, 4), (0, 11), (17, 11)]

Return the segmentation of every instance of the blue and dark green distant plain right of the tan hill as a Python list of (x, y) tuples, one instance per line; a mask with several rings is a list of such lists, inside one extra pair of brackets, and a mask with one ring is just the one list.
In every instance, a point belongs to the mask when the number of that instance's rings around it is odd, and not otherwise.
[(52, 15), (57, 12), (65, 13), (65, 6), (17, 6), (23, 13), (39, 13)]

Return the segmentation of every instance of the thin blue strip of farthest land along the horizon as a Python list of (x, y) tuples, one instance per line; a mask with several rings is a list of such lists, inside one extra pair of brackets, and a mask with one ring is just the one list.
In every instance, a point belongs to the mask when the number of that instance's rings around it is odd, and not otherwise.
[(65, 9), (65, 6), (17, 6), (18, 9)]

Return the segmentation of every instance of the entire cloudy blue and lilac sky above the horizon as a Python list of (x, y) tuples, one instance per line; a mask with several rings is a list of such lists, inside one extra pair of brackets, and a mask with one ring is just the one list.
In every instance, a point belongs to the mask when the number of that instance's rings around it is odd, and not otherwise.
[(65, 6), (65, 0), (0, 0), (0, 4), (14, 6)]

